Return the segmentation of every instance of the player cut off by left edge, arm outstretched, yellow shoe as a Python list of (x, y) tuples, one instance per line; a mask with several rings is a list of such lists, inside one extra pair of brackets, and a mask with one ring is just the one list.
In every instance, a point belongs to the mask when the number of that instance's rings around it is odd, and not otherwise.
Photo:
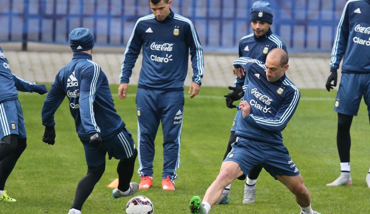
[(18, 91), (47, 92), (45, 85), (36, 85), (15, 76), (0, 47), (0, 202), (16, 202), (4, 190), (5, 182), (18, 158), (26, 149), (26, 128)]

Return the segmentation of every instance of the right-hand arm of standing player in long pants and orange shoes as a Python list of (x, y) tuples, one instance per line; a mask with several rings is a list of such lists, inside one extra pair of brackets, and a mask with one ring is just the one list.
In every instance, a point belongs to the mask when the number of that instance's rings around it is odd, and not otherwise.
[(193, 23), (189, 22), (187, 44), (190, 49), (191, 66), (193, 68), (193, 76), (191, 78), (189, 93), (190, 98), (198, 94), (199, 88), (202, 85), (203, 71), (204, 71), (204, 57), (203, 49), (200, 44), (198, 34), (195, 31)]

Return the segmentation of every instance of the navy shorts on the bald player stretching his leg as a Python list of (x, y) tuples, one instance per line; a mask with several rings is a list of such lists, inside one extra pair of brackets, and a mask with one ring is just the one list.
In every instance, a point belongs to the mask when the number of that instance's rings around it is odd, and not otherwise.
[[(244, 175), (248, 175), (257, 165), (261, 165), (275, 179), (277, 175), (299, 175), (296, 164), (283, 144), (263, 143), (237, 137), (231, 146), (232, 150), (224, 161), (239, 164)], [(244, 180), (244, 176), (239, 179)]]

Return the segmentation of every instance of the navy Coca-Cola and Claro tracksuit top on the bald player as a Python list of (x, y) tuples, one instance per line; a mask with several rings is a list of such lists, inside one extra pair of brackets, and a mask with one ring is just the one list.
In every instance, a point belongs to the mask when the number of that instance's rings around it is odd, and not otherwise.
[[(270, 83), (263, 62), (248, 57), (234, 61), (234, 67), (243, 67), (249, 80), (244, 100), (251, 106), (251, 114), (239, 118), (235, 135), (274, 144), (283, 144), (281, 131), (292, 118), (299, 101), (299, 90), (284, 75)], [(239, 110), (240, 111), (240, 110)]]

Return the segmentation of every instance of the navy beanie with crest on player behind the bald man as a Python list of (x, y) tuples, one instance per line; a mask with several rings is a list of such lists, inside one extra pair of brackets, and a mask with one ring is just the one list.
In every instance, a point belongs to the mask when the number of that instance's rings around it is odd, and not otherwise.
[(251, 22), (261, 21), (272, 24), (272, 9), (267, 1), (258, 0), (253, 3), (251, 8)]

